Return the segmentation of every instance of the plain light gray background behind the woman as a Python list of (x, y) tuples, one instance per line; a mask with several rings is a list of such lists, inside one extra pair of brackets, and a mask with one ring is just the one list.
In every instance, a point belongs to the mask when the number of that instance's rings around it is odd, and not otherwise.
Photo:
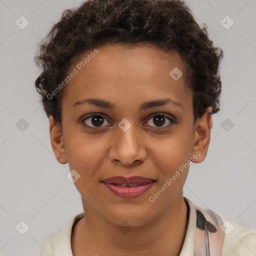
[[(224, 58), (222, 109), (213, 115), (205, 160), (190, 166), (184, 196), (256, 228), (256, 1), (186, 2), (199, 25), (207, 24)], [(44, 239), (83, 211), (80, 194), (66, 177), (68, 164), (59, 164), (51, 149), (33, 63), (40, 38), (65, 8), (79, 3), (0, 0), (0, 255), (40, 255)], [(29, 21), (24, 29), (15, 24), (21, 15)], [(229, 29), (220, 23), (226, 15), (234, 21)], [(21, 118), (28, 123), (23, 131)], [(221, 126), (226, 118), (234, 124), (229, 130), (222, 127), (225, 122)], [(15, 228), (21, 220), (29, 226), (23, 235)]]

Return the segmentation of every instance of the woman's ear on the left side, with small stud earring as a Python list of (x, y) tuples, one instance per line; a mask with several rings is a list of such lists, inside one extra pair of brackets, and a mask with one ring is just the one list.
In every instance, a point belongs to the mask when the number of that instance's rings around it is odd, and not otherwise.
[(60, 157), (62, 158), (61, 163), (66, 163), (66, 152), (63, 140), (63, 134), (61, 132), (60, 126), (54, 124), (54, 120), (52, 115), (49, 117), (49, 132), (50, 132), (50, 142), (51, 147), (54, 151), (54, 154), (58, 161), (60, 161)]

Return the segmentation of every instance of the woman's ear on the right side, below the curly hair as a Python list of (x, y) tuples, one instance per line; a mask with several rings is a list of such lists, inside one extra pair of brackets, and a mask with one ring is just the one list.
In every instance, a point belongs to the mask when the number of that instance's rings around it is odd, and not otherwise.
[(190, 160), (192, 162), (202, 162), (206, 157), (209, 142), (210, 130), (212, 128), (212, 107), (208, 107), (203, 116), (198, 118), (194, 124), (193, 150)]

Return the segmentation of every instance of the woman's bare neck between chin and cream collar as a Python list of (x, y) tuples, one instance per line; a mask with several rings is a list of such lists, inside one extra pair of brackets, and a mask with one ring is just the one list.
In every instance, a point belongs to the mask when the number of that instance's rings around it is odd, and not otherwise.
[(105, 256), (130, 255), (132, 252), (137, 255), (179, 255), (188, 221), (188, 206), (182, 192), (160, 217), (131, 227), (109, 222), (87, 201), (82, 203), (85, 217), (77, 221), (79, 224), (72, 230), (73, 256), (87, 255), (88, 252)]

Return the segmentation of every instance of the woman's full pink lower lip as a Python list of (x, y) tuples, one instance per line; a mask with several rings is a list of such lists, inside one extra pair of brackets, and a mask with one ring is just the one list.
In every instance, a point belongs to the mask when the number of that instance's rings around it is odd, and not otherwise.
[(133, 199), (148, 191), (150, 187), (155, 183), (155, 181), (151, 180), (151, 182), (133, 187), (119, 186), (112, 183), (105, 183), (103, 181), (102, 183), (115, 195), (124, 199)]

